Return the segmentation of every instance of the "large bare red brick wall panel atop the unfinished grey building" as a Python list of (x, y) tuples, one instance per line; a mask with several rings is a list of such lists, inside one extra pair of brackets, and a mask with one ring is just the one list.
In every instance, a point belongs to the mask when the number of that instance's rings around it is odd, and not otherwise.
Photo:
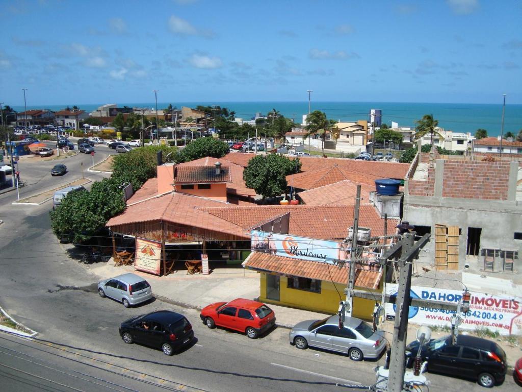
[[(430, 171), (429, 178), (431, 177)], [(507, 200), (508, 180), (509, 162), (446, 160), (442, 196), (460, 199)]]

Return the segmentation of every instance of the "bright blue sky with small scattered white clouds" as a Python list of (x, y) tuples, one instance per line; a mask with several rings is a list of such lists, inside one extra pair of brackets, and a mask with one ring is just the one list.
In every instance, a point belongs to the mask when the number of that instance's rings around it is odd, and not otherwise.
[(522, 2), (1, 0), (0, 101), (522, 103)]

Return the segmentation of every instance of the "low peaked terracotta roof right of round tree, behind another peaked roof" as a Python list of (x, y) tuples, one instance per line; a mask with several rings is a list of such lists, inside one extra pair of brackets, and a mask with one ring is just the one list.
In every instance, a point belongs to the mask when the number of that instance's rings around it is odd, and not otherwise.
[(343, 180), (350, 180), (352, 182), (372, 186), (375, 185), (376, 179), (381, 178), (384, 177), (354, 171), (335, 165), (333, 167), (323, 167), (317, 170), (288, 175), (287, 183), (289, 186), (297, 189), (314, 189)]

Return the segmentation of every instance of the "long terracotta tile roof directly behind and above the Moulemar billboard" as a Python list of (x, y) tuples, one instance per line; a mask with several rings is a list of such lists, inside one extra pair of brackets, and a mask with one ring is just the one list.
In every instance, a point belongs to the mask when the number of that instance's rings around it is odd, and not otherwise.
[[(202, 210), (222, 220), (241, 226), (245, 230), (250, 230), (257, 227), (259, 223), (290, 212), (289, 233), (311, 238), (342, 239), (346, 238), (348, 227), (353, 223), (353, 209), (353, 205), (301, 204), (205, 207)], [(388, 220), (388, 227), (396, 224), (396, 220)], [(370, 227), (372, 236), (384, 235), (384, 220), (371, 204), (360, 205), (359, 227)]]

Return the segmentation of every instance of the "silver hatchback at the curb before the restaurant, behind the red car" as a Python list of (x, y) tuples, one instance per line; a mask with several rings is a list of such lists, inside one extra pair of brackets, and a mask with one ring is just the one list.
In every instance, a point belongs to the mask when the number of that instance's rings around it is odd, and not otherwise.
[(148, 301), (152, 298), (149, 282), (141, 276), (126, 273), (98, 283), (100, 297), (120, 301), (126, 308)]

